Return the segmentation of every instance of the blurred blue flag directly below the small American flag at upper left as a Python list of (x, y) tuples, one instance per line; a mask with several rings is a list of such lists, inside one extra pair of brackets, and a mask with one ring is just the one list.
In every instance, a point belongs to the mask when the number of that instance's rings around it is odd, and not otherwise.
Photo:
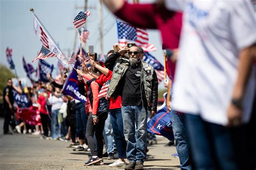
[(45, 60), (39, 59), (38, 69), (39, 69), (39, 81), (49, 82), (48, 78), (46, 77), (46, 74), (52, 73), (53, 64), (50, 65), (47, 62), (45, 62)]

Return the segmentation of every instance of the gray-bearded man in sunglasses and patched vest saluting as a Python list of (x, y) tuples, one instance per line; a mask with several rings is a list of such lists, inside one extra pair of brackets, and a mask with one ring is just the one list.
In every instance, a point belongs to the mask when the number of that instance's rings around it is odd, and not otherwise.
[[(127, 51), (119, 50), (113, 55), (120, 57)], [(158, 80), (153, 67), (140, 59), (137, 46), (130, 47), (128, 54), (129, 60), (112, 60), (115, 65), (107, 97), (122, 97), (126, 156), (130, 162), (125, 169), (143, 169), (146, 158), (147, 115), (153, 117), (157, 112)], [(110, 60), (105, 63), (109, 64)]]

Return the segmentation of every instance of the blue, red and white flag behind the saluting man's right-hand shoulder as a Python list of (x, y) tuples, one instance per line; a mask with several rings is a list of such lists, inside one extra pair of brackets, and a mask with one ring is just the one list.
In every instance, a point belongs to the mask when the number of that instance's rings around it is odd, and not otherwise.
[(164, 79), (164, 66), (154, 56), (150, 55), (149, 52), (145, 52), (143, 60), (154, 68), (158, 83), (160, 83)]

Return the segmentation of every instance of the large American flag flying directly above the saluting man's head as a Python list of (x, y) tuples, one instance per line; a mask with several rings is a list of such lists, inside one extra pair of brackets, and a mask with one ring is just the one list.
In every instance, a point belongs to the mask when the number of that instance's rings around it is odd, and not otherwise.
[(117, 21), (118, 43), (124, 47), (126, 43), (136, 43), (142, 46), (144, 51), (156, 51), (157, 48), (149, 43), (146, 29), (139, 29), (131, 24)]

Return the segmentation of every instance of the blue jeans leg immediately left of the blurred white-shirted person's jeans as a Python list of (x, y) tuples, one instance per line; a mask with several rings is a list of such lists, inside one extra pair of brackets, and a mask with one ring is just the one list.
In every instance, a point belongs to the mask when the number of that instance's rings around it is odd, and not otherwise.
[(171, 120), (174, 139), (176, 140), (176, 149), (180, 160), (180, 168), (191, 169), (185, 114), (172, 110)]

